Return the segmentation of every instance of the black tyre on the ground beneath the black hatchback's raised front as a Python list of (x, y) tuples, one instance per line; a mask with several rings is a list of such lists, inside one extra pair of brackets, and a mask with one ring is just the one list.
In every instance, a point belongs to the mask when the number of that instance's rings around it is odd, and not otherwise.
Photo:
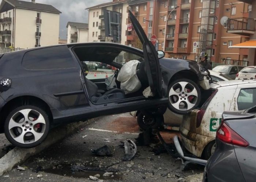
[(163, 116), (146, 116), (142, 112), (140, 112), (137, 116), (137, 122), (142, 130), (147, 130), (148, 128), (156, 129), (159, 128), (163, 123)]

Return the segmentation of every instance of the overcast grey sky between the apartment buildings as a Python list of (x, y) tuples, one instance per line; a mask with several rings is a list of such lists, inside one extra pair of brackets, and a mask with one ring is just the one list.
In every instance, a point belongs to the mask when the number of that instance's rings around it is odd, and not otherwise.
[[(25, 0), (31, 1), (31, 0)], [(36, 3), (50, 4), (62, 13), (60, 14), (60, 38), (67, 39), (68, 21), (88, 23), (88, 11), (86, 8), (107, 3), (112, 0), (35, 0)]]

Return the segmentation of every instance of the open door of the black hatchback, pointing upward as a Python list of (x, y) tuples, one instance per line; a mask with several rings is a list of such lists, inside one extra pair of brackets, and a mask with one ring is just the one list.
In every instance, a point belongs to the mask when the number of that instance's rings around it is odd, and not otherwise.
[(151, 41), (148, 40), (147, 35), (144, 32), (143, 28), (141, 27), (139, 21), (135, 18), (135, 16), (132, 14), (130, 10), (129, 17), (143, 45), (145, 67), (151, 91), (154, 93), (154, 95), (162, 97), (162, 76), (158, 59), (158, 53), (155, 50), (155, 47), (153, 46)]

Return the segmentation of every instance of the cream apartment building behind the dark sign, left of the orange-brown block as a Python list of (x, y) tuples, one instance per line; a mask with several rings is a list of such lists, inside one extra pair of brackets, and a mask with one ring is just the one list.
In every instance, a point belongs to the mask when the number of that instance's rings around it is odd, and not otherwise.
[(127, 19), (128, 19), (128, 3), (127, 0), (113, 0), (109, 3), (99, 4), (90, 8), (89, 11), (89, 37), (88, 41), (108, 41), (113, 42), (112, 37), (105, 36), (105, 24), (103, 11), (116, 11), (121, 13), (121, 44), (125, 44)]

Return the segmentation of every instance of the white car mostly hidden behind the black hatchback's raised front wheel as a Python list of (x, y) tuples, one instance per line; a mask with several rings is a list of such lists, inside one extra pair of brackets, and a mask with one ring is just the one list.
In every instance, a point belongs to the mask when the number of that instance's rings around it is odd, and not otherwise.
[[(220, 81), (227, 81), (231, 80), (231, 78), (221, 74), (220, 72), (208, 70), (210, 72), (211, 78), (214, 82), (220, 82)], [(158, 122), (157, 118), (153, 115), (144, 115), (141, 111), (132, 111), (131, 115), (133, 117), (137, 117), (138, 125), (142, 130), (146, 130), (147, 128), (158, 128), (162, 123), (179, 127), (182, 123), (182, 116), (181, 114), (176, 114), (169, 109), (166, 110), (165, 114), (163, 114), (163, 120)]]

